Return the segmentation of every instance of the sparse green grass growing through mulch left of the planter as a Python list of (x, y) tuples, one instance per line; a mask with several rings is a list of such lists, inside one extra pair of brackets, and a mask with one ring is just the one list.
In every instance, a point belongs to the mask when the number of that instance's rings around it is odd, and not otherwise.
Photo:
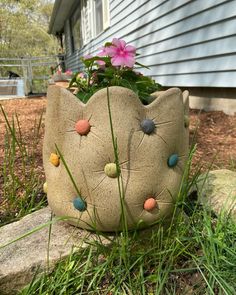
[(43, 180), (37, 170), (35, 152), (42, 129), (42, 114), (35, 119), (32, 141), (28, 145), (18, 115), (10, 120), (4, 108), (0, 107), (6, 128), (4, 159), (0, 164), (1, 206), (4, 208), (0, 218), (2, 226), (44, 206), (46, 195), (42, 191)]

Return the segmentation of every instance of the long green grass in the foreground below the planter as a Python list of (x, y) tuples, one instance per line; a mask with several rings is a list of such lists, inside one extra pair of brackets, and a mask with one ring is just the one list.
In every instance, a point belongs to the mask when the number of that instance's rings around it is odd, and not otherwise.
[(235, 294), (235, 224), (197, 205), (191, 212), (168, 231), (89, 243), (20, 294)]

